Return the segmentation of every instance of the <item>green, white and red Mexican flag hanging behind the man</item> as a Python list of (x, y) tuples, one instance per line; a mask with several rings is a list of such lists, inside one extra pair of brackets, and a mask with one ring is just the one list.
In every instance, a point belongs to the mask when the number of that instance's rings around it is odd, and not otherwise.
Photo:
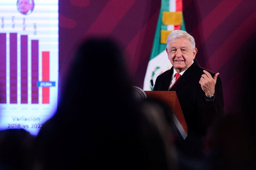
[(156, 77), (172, 67), (165, 48), (168, 35), (173, 30), (186, 31), (182, 14), (182, 0), (162, 0), (154, 43), (144, 79), (144, 91), (153, 90), (150, 80), (152, 79), (155, 84)]

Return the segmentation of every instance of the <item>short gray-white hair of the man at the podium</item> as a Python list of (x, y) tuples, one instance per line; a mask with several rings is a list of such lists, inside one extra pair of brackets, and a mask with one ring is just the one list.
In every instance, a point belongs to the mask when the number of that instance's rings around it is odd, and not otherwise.
[(168, 48), (168, 42), (169, 41), (173, 41), (173, 40), (175, 40), (177, 38), (182, 38), (182, 37), (186, 37), (190, 41), (192, 48), (196, 47), (195, 39), (189, 33), (187, 33), (186, 31), (182, 31), (182, 30), (173, 30), (169, 34), (169, 36), (167, 38), (167, 41), (166, 41), (167, 46), (166, 46), (166, 48)]

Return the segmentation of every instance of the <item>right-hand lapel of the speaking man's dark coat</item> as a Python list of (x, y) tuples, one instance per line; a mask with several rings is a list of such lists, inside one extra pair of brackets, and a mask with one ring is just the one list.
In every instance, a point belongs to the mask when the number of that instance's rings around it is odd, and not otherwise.
[[(185, 73), (180, 76), (180, 78), (177, 80), (175, 85), (172, 87), (172, 91), (176, 91), (180, 89), (186, 82), (189, 80), (190, 76), (195, 75), (197, 68), (199, 67), (196, 59), (194, 60), (194, 63), (188, 68), (188, 70), (185, 71)], [(199, 82), (199, 80), (198, 80)]]

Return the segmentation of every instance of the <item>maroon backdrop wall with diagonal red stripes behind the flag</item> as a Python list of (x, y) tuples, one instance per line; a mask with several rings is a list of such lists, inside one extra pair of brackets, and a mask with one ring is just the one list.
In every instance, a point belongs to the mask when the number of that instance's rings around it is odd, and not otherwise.
[[(161, 0), (59, 1), (60, 81), (80, 41), (107, 35), (124, 50), (133, 85), (142, 88), (160, 6)], [(226, 112), (254, 107), (255, 7), (254, 0), (183, 0), (186, 29), (198, 48), (196, 59), (220, 72)]]

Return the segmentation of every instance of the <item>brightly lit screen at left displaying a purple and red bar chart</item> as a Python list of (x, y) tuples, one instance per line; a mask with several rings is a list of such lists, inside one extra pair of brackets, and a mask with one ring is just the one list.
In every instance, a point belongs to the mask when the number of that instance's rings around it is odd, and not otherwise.
[(29, 14), (0, 0), (0, 129), (36, 135), (58, 97), (58, 1), (37, 0)]

